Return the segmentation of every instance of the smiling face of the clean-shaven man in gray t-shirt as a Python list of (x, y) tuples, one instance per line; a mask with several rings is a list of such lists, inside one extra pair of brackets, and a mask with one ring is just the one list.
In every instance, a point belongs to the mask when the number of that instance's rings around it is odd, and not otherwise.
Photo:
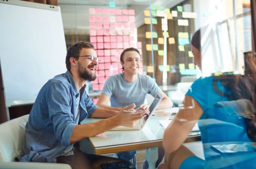
[(140, 55), (136, 51), (127, 51), (124, 53), (124, 73), (129, 75), (137, 74), (140, 65)]

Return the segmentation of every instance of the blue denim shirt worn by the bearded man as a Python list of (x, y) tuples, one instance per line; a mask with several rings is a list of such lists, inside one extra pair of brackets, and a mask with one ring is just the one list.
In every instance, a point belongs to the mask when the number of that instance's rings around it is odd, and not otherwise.
[[(75, 124), (79, 91), (69, 71), (55, 76), (41, 88), (25, 128), (21, 162), (56, 162), (67, 147)], [(79, 123), (98, 108), (85, 85), (80, 90)]]

